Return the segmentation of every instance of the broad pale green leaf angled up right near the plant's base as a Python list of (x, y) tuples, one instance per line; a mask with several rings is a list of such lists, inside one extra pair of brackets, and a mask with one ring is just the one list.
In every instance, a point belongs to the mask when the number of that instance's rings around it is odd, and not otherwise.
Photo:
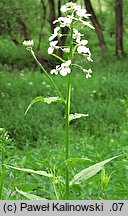
[(82, 170), (81, 172), (76, 174), (74, 176), (74, 178), (70, 181), (70, 186), (73, 185), (73, 184), (80, 184), (82, 181), (85, 181), (85, 180), (91, 178), (96, 173), (98, 173), (106, 163), (110, 162), (111, 160), (113, 160), (113, 159), (115, 159), (115, 158), (117, 158), (119, 156), (109, 158), (107, 160), (104, 160), (104, 161), (102, 161), (100, 163), (96, 163), (96, 164)]

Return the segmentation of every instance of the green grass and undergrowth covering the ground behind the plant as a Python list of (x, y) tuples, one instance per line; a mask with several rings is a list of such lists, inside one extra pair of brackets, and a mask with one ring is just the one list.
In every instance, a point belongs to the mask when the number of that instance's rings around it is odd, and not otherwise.
[[(81, 61), (81, 59), (79, 60)], [(81, 62), (85, 64), (84, 62)], [(127, 199), (127, 144), (128, 119), (121, 103), (128, 95), (127, 62), (115, 59), (99, 60), (92, 65), (92, 79), (74, 72), (72, 77), (71, 112), (89, 113), (86, 119), (71, 124), (71, 157), (88, 157), (89, 163), (73, 163), (70, 175), (109, 157), (122, 156), (105, 166), (106, 173), (115, 171), (102, 199)], [(56, 165), (63, 175), (65, 125), (62, 104), (33, 105), (27, 116), (24, 112), (36, 96), (56, 96), (44, 74), (39, 71), (0, 71), (1, 125), (12, 138), (7, 149), (7, 163), (35, 170), (47, 170)], [(66, 78), (54, 77), (65, 95)], [(100, 173), (76, 185), (71, 199), (97, 199), (101, 191)], [(6, 172), (4, 199), (24, 199), (15, 187), (32, 194), (55, 199), (50, 181), (45, 177), (29, 175), (16, 170)], [(99, 198), (99, 197), (98, 197)]]

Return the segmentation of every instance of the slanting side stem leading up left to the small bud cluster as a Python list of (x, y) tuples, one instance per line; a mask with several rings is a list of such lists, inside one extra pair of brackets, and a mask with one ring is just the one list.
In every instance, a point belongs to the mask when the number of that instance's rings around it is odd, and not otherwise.
[(44, 69), (44, 67), (41, 65), (41, 63), (38, 61), (38, 59), (35, 56), (34, 51), (31, 49), (30, 50), (33, 58), (35, 59), (36, 63), (38, 64), (38, 66), (44, 71), (44, 73), (46, 74), (46, 76), (48, 77), (48, 79), (50, 80), (50, 82), (52, 83), (53, 87), (55, 88), (55, 90), (57, 91), (58, 95), (61, 97), (61, 99), (65, 102), (62, 94), (60, 93), (59, 89), (57, 88), (56, 84), (54, 83), (53, 79), (50, 77), (50, 75), (47, 73), (47, 71)]

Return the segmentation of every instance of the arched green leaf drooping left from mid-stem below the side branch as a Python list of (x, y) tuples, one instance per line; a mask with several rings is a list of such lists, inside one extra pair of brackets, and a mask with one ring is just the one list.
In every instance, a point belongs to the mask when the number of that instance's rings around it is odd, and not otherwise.
[(34, 98), (31, 103), (29, 104), (27, 110), (25, 111), (25, 115), (27, 114), (27, 112), (29, 111), (30, 107), (37, 103), (37, 102), (43, 102), (43, 103), (47, 103), (47, 104), (50, 104), (52, 102), (64, 102), (61, 98), (59, 97), (48, 97), (48, 98), (44, 98), (42, 96), (39, 96), (39, 97), (36, 97)]

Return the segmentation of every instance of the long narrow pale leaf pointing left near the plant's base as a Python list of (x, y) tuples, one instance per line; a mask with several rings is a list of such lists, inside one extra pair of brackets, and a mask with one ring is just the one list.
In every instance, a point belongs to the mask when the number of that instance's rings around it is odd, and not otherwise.
[(19, 167), (13, 167), (13, 166), (8, 166), (6, 165), (6, 167), (9, 167), (9, 168), (12, 168), (12, 169), (15, 169), (15, 170), (19, 170), (19, 171), (23, 171), (23, 172), (28, 172), (28, 173), (32, 173), (32, 174), (37, 174), (37, 175), (41, 175), (41, 176), (45, 176), (45, 177), (53, 177), (52, 174), (49, 174), (45, 171), (35, 171), (35, 170), (31, 170), (31, 169), (25, 169), (25, 168), (19, 168)]

